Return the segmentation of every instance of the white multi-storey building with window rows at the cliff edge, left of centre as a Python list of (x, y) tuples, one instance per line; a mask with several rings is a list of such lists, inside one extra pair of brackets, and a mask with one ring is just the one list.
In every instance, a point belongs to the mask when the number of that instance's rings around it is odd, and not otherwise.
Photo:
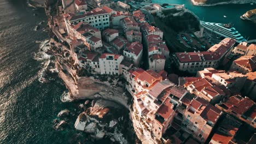
[(115, 55), (112, 53), (102, 53), (99, 58), (101, 75), (120, 75), (122, 70), (120, 68), (120, 63), (123, 61), (124, 57), (122, 55)]

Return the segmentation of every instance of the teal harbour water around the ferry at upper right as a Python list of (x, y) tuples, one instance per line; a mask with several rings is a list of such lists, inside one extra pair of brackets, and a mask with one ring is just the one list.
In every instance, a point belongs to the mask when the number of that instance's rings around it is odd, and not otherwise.
[[(256, 23), (240, 19), (240, 16), (246, 13), (246, 11), (256, 9), (256, 3), (253, 5), (248, 3), (199, 7), (194, 6), (190, 0), (152, 0), (152, 2), (160, 4), (185, 4), (185, 8), (193, 11), (200, 20), (207, 22), (232, 23), (243, 37), (246, 37), (246, 39), (256, 39)], [(224, 18), (224, 15), (227, 17)]]

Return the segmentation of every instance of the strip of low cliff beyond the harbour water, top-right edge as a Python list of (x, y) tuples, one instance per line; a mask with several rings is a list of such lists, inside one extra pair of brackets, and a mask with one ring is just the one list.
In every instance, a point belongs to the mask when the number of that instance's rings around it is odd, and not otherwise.
[(242, 4), (242, 3), (252, 3), (254, 0), (191, 0), (194, 5), (210, 6), (218, 4)]

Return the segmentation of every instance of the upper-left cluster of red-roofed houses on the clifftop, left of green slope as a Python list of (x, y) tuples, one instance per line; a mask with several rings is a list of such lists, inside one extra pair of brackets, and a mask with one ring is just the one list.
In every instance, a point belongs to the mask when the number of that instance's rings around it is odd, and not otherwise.
[[(64, 14), (63, 19), (69, 45), (80, 67), (111, 75), (123, 74), (122, 61), (134, 67), (148, 65), (157, 72), (164, 69), (169, 50), (162, 40), (163, 32), (150, 25), (141, 10), (129, 13), (130, 8), (123, 2), (91, 10), (85, 0), (75, 0), (74, 5), (75, 11)], [(94, 55), (94, 59), (88, 55)], [(114, 62), (108, 58), (112, 56)]]

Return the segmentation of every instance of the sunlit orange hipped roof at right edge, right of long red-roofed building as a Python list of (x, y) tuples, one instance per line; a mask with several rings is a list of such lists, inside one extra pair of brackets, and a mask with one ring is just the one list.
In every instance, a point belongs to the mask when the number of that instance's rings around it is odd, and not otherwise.
[(240, 58), (237, 58), (234, 63), (241, 67), (245, 67), (250, 71), (256, 70), (256, 56), (241, 56)]

